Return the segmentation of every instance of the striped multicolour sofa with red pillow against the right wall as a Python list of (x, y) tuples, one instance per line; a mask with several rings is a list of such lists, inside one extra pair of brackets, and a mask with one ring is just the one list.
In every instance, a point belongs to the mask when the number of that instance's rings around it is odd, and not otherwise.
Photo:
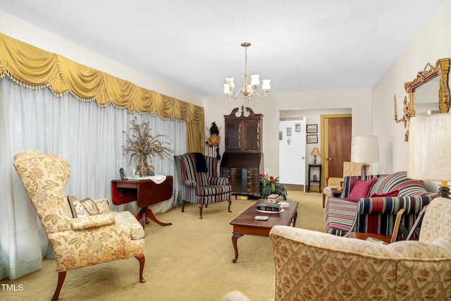
[[(346, 200), (356, 179), (377, 178), (369, 195), (383, 195), (398, 190), (397, 197), (362, 197), (357, 202)], [(342, 195), (330, 197), (326, 206), (326, 233), (344, 236), (349, 232), (392, 235), (397, 211), (404, 211), (404, 226), (409, 229), (421, 209), (438, 195), (426, 191), (420, 180), (407, 178), (405, 171), (389, 175), (345, 177)]]

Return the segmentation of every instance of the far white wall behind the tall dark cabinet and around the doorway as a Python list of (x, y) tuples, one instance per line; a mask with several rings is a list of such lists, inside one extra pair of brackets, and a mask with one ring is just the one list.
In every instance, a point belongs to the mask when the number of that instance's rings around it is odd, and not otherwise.
[[(240, 72), (240, 70), (237, 70)], [(219, 88), (219, 87), (218, 87)], [(249, 102), (244, 97), (237, 97), (230, 102), (226, 96), (210, 97), (204, 101), (205, 124), (216, 121), (220, 135), (224, 134), (224, 115), (230, 114), (233, 108), (245, 105), (254, 113), (263, 113), (263, 153), (264, 173), (278, 176), (278, 123), (280, 111), (318, 110), (330, 112), (331, 109), (352, 111), (352, 135), (371, 135), (371, 90), (336, 90), (318, 92), (298, 92), (277, 94), (272, 91), (263, 99), (257, 97)], [(284, 113), (285, 114), (285, 113)], [(319, 115), (314, 118), (310, 115), (307, 123), (318, 123)], [(318, 128), (320, 131), (321, 129)], [(320, 139), (320, 136), (318, 137)], [(221, 154), (224, 152), (224, 143), (219, 146)], [(308, 149), (307, 149), (308, 150)]]

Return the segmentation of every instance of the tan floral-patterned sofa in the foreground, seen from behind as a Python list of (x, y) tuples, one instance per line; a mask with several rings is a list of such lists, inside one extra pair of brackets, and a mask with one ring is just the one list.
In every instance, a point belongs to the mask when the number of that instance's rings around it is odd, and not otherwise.
[(274, 226), (276, 300), (451, 300), (451, 200), (428, 205), (419, 240), (380, 245)]

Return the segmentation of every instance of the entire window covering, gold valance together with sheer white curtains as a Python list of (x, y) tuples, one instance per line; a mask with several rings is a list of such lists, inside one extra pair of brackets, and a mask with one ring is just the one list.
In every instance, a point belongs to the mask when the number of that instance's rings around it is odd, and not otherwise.
[[(0, 279), (37, 271), (42, 258), (52, 254), (13, 170), (13, 155), (29, 148), (61, 154), (71, 166), (68, 195), (111, 200), (110, 182), (118, 169), (130, 176), (135, 164), (121, 147), (123, 131), (129, 133), (135, 117), (150, 120), (153, 134), (171, 137), (175, 154), (203, 152), (202, 107), (0, 34)], [(156, 173), (175, 175), (172, 157), (152, 165)], [(173, 197), (154, 205), (154, 213), (179, 206), (179, 195), (174, 185)], [(136, 202), (110, 207), (137, 211)]]

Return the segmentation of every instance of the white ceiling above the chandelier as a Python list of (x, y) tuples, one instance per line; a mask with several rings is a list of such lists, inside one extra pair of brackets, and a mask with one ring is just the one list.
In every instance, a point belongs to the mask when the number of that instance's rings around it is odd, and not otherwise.
[[(0, 10), (203, 97), (372, 87), (445, 0), (1, 0)], [(70, 58), (68, 58), (70, 59)], [(126, 78), (125, 78), (126, 80)], [(152, 87), (147, 87), (152, 89)]]

